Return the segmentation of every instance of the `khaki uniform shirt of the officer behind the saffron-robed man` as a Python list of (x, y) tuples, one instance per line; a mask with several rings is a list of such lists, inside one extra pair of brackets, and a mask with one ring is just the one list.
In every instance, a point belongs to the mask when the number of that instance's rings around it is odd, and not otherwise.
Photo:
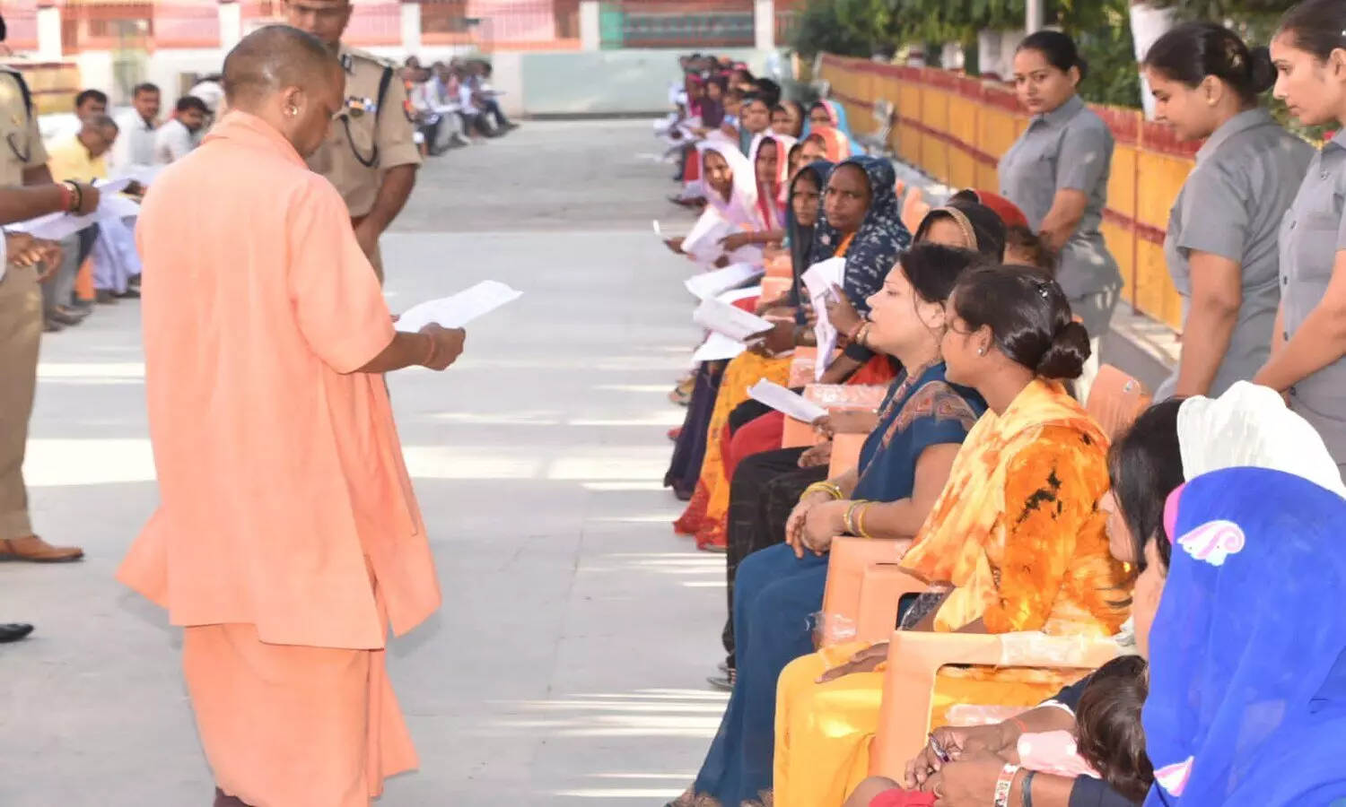
[(345, 104), (327, 140), (308, 157), (308, 167), (336, 186), (354, 219), (374, 207), (389, 168), (420, 165), (421, 157), (406, 113), (406, 87), (396, 69), (378, 112), (378, 85), (388, 63), (345, 44), (341, 62), (346, 70)]

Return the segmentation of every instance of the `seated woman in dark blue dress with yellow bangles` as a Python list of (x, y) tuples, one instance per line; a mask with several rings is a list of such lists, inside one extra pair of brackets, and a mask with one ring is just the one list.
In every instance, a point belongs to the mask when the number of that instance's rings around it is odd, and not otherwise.
[(942, 246), (913, 247), (871, 299), (875, 344), (913, 370), (890, 390), (860, 467), (820, 483), (800, 503), (789, 546), (755, 553), (739, 568), (739, 677), (705, 764), (677, 804), (769, 803), (775, 682), (786, 663), (813, 650), (809, 616), (822, 605), (832, 537), (911, 538), (944, 490), (958, 445), (984, 410), (976, 394), (944, 381), (940, 360), (944, 301), (975, 260)]

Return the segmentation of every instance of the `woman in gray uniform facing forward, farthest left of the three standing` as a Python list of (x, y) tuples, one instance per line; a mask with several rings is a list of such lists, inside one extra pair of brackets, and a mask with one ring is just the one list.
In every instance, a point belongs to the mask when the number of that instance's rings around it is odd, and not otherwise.
[(1075, 93), (1086, 65), (1059, 31), (1030, 34), (1014, 56), (1014, 83), (1032, 121), (1000, 159), (1000, 195), (1059, 252), (1057, 281), (1089, 331), (1093, 355), (1077, 382), (1084, 398), (1098, 343), (1117, 305), (1121, 273), (1098, 225), (1108, 203), (1112, 132)]

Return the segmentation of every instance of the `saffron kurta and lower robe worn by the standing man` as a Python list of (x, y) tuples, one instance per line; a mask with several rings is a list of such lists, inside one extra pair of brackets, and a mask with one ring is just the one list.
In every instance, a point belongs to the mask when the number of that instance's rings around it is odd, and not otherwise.
[(388, 623), (440, 603), (388, 393), (357, 373), (393, 339), (378, 281), (331, 183), (242, 112), (163, 172), (136, 235), (160, 504), (118, 578), (187, 628), (221, 788), (366, 804), (416, 764)]

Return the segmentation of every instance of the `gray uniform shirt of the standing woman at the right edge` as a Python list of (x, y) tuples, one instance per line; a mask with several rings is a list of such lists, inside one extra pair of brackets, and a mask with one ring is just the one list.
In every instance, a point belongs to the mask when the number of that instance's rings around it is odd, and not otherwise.
[[(1288, 339), (1327, 295), (1337, 252), (1346, 249), (1346, 130), (1308, 163), (1299, 194), (1280, 226), (1280, 295)], [(1346, 468), (1346, 359), (1304, 378), (1289, 390), (1291, 409), (1307, 420)]]

